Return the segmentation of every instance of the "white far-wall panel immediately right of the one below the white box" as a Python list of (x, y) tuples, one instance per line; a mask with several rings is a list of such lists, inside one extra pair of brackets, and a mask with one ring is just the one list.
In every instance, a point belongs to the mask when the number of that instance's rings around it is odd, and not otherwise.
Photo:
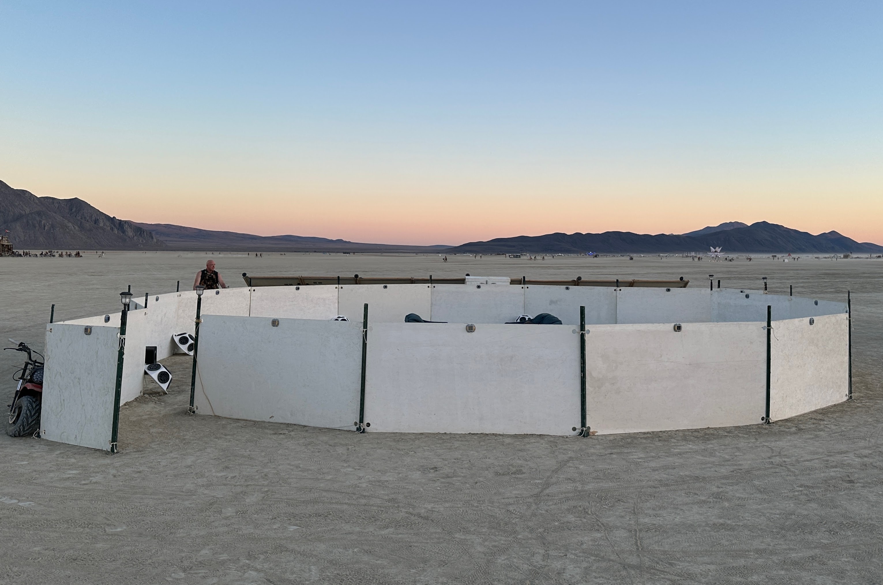
[(558, 287), (529, 285), (525, 289), (525, 314), (551, 313), (565, 325), (579, 325), (579, 307), (585, 306), (585, 323), (616, 322), (616, 291), (608, 287)]

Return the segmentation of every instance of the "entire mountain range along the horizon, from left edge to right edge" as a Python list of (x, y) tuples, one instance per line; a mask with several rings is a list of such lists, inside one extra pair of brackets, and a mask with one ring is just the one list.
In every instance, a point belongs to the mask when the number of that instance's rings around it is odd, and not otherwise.
[(309, 236), (253, 236), (186, 228), (169, 223), (136, 223), (104, 214), (81, 199), (36, 197), (0, 181), (0, 233), (11, 232), (16, 250), (176, 250), (176, 251), (361, 251), (424, 253), (670, 253), (707, 251), (762, 253), (883, 253), (883, 246), (859, 243), (835, 231), (805, 231), (758, 221), (728, 221), (681, 236), (633, 234), (546, 234), (499, 237), (459, 246), (363, 244)]

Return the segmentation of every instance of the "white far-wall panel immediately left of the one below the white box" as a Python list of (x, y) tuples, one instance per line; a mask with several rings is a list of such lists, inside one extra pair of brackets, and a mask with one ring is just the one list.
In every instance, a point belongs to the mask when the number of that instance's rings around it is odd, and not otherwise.
[(428, 284), (350, 284), (340, 289), (339, 314), (362, 322), (365, 304), (372, 323), (401, 323), (408, 313), (429, 319)]

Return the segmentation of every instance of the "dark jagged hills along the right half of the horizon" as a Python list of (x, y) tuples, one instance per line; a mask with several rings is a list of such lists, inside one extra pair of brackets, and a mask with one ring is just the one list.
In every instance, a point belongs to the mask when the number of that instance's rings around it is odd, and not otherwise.
[(487, 242), (470, 242), (449, 250), (456, 252), (531, 252), (531, 253), (677, 253), (707, 251), (721, 246), (725, 252), (796, 252), (796, 253), (881, 253), (883, 246), (858, 243), (837, 232), (819, 236), (786, 228), (776, 223), (758, 221), (743, 228), (724, 229), (701, 236), (633, 234), (607, 231), (603, 234), (547, 234), (545, 236), (498, 237)]

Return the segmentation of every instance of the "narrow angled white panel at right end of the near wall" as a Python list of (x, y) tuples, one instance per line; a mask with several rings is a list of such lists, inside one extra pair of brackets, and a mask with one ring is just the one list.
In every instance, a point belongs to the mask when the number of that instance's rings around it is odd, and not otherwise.
[[(814, 306), (814, 305), (813, 305)], [(770, 418), (774, 421), (845, 401), (849, 393), (846, 314), (773, 322)]]

